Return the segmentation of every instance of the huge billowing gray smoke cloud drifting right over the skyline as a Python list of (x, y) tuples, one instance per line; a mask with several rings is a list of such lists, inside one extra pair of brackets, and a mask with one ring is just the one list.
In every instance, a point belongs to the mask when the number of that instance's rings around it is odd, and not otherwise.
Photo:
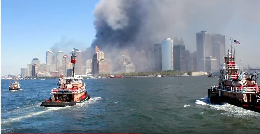
[(186, 48), (196, 51), (196, 32), (228, 34), (231, 23), (259, 24), (259, 7), (256, 0), (100, 0), (94, 10), (96, 38), (87, 50), (92, 56), (98, 46), (113, 60), (122, 50), (135, 55), (165, 38), (183, 37)]

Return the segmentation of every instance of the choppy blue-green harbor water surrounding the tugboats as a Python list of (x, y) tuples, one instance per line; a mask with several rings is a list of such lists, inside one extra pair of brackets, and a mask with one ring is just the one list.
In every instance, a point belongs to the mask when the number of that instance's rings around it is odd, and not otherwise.
[[(1, 80), (1, 133), (258, 133), (260, 113), (209, 104), (206, 76), (84, 79), (91, 100), (40, 107), (58, 79)], [(260, 83), (260, 82), (258, 82)]]

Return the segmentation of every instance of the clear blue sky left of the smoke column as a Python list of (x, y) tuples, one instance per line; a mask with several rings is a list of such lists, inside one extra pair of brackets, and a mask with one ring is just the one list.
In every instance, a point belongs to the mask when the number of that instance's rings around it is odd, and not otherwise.
[[(1, 0), (1, 76), (19, 74), (61, 38), (87, 48), (95, 38), (98, 0)], [(73, 46), (71, 46), (73, 49)], [(7, 57), (7, 56), (8, 57)]]

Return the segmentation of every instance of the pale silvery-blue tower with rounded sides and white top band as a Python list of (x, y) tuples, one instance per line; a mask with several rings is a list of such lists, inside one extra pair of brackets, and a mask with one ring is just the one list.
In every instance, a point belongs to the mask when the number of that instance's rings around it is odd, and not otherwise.
[(173, 70), (173, 40), (162, 41), (162, 71)]

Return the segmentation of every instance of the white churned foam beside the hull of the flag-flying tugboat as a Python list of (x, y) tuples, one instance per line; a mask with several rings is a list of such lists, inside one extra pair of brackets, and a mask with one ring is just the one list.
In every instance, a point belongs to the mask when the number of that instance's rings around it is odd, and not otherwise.
[(237, 107), (228, 103), (225, 104), (210, 104), (210, 100), (208, 97), (201, 98), (199, 100), (196, 100), (195, 104), (198, 104), (200, 106), (210, 106), (209, 109), (213, 110), (224, 110), (224, 113), (221, 113), (222, 115), (232, 116), (232, 117), (254, 117), (259, 116), (260, 113), (247, 110), (241, 107)]

